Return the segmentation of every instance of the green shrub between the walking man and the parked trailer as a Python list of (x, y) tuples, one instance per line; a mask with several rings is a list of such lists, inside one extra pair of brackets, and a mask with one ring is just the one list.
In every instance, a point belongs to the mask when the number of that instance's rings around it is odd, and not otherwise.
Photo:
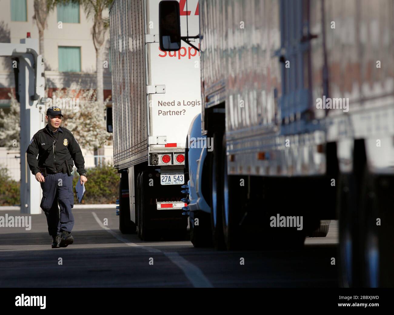
[[(85, 196), (82, 204), (115, 204), (119, 198), (120, 174), (111, 164), (94, 167), (86, 170)], [(79, 180), (75, 172), (73, 178), (74, 204), (79, 204), (75, 193), (75, 185)]]

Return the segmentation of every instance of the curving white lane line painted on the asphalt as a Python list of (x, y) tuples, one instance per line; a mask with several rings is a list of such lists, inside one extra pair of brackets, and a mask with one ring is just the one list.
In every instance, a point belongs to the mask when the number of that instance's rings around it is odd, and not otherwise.
[(191, 282), (193, 287), (213, 287), (213, 285), (210, 283), (208, 278), (204, 276), (204, 273), (197, 267), (196, 265), (193, 265), (191, 262), (187, 261), (184, 259), (182, 256), (180, 256), (177, 252), (162, 252), (161, 250), (155, 249), (155, 248), (149, 248), (147, 246), (143, 245), (138, 245), (136, 243), (130, 243), (128, 240), (124, 239), (123, 237), (117, 235), (115, 232), (113, 232), (108, 226), (105, 226), (97, 217), (97, 214), (95, 212), (92, 212), (93, 217), (96, 219), (97, 223), (99, 226), (101, 226), (104, 230), (106, 230), (108, 233), (110, 233), (113, 237), (116, 237), (119, 239), (119, 241), (122, 241), (123, 243), (126, 243), (128, 246), (137, 246), (141, 247), (145, 250), (148, 250), (149, 252), (156, 252), (156, 253), (161, 253), (167, 256), (168, 259), (170, 259), (175, 265), (177, 265), (180, 270), (183, 271), (185, 274), (186, 278)]

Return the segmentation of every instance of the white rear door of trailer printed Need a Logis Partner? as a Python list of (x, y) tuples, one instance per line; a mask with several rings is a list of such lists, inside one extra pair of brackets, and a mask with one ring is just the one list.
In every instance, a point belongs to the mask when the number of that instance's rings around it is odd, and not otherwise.
[[(148, 80), (150, 109), (150, 144), (184, 146), (191, 120), (201, 113), (199, 52), (182, 41), (176, 52), (163, 52), (159, 48), (159, 2), (149, 0), (147, 30)], [(186, 36), (186, 14), (189, 35), (199, 34), (198, 0), (180, 0), (182, 36)], [(156, 35), (156, 36), (152, 36)], [(195, 46), (199, 46), (196, 39)], [(165, 92), (165, 93), (162, 93)], [(164, 143), (164, 139), (166, 139)]]

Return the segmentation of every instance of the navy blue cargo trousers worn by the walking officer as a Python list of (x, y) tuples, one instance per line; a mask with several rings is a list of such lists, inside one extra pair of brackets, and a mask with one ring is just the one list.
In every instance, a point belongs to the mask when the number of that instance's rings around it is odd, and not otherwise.
[(46, 215), (49, 235), (56, 236), (63, 231), (71, 232), (74, 227), (74, 215), (71, 212), (71, 208), (74, 207), (72, 175), (68, 176), (62, 172), (48, 174), (45, 182), (41, 183), (41, 188), (43, 198), (40, 207)]

